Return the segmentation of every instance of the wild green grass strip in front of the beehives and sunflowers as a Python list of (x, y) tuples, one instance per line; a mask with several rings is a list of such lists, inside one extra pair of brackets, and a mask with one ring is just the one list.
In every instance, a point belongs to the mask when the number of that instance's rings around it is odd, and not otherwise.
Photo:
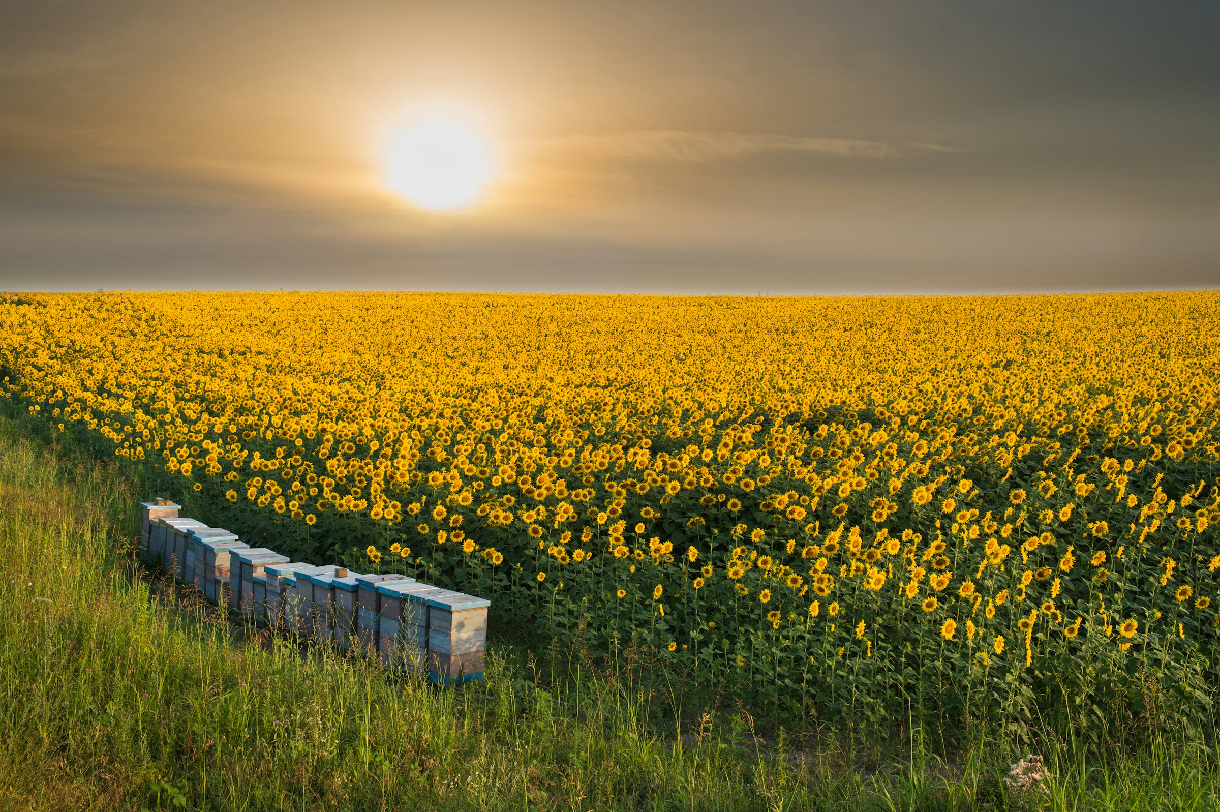
[[(118, 469), (0, 418), (0, 810), (1205, 810), (1214, 731), (845, 736), (675, 713), (647, 669), (492, 652), (438, 689), (233, 626), (142, 570)], [(655, 676), (655, 675), (654, 675)], [(1100, 733), (1098, 733), (1100, 730)], [(1048, 792), (1004, 789), (1026, 752)]]

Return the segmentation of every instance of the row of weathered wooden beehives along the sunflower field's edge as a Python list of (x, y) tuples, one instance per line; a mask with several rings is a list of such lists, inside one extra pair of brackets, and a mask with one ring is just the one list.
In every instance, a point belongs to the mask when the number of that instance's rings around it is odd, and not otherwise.
[(253, 622), (282, 625), (339, 648), (376, 652), (387, 665), (427, 669), (433, 680), (483, 674), (490, 601), (406, 575), (361, 575), (289, 562), (237, 535), (179, 519), (179, 506), (143, 502), (140, 554)]

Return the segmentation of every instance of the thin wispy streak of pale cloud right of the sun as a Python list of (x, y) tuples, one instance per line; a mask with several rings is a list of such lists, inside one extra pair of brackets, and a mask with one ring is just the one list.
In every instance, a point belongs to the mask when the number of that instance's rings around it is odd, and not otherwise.
[[(804, 138), (692, 129), (643, 129), (605, 136), (569, 136), (531, 142), (540, 155), (708, 162), (758, 153), (827, 153), (850, 158), (897, 158), (891, 144), (858, 138)], [(919, 149), (931, 149), (920, 144)], [(939, 149), (939, 148), (937, 148)]]

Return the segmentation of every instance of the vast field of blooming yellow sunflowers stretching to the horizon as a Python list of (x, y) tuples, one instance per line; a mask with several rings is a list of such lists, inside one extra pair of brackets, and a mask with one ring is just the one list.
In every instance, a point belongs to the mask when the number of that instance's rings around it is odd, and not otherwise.
[(1220, 294), (0, 295), (13, 408), (304, 560), (816, 718), (1193, 713)]

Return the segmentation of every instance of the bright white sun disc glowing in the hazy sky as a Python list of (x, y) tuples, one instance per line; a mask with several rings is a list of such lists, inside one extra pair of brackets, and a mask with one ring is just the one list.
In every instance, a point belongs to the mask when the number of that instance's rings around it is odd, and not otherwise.
[(473, 205), (497, 175), (477, 118), (454, 106), (416, 110), (389, 133), (384, 150), (386, 186), (431, 211)]

